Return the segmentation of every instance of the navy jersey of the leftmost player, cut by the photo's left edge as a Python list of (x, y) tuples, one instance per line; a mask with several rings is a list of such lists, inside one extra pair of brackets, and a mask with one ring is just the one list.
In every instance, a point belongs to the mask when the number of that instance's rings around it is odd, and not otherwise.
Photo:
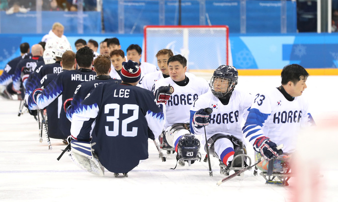
[(14, 76), (14, 72), (15, 72), (17, 64), (22, 59), (27, 59), (29, 57), (31, 57), (31, 54), (24, 54), (23, 56), (19, 56), (9, 61), (6, 67), (3, 68), (3, 72), (0, 76), (0, 85), (8, 85), (9, 83), (11, 83), (13, 81), (13, 76)]

